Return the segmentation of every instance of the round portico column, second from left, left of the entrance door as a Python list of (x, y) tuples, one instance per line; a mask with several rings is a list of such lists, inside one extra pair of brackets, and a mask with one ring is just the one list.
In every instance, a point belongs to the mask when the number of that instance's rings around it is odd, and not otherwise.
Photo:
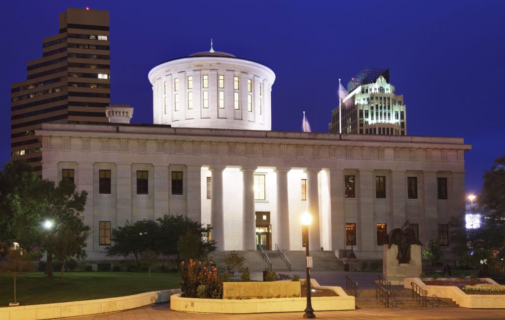
[(256, 209), (254, 172), (256, 167), (242, 167), (242, 249), (256, 250)]

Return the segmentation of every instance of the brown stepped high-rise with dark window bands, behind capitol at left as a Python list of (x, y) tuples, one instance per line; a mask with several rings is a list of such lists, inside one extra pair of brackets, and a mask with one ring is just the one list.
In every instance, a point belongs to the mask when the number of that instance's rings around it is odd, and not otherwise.
[(67, 9), (60, 33), (43, 39), (42, 57), (26, 67), (26, 81), (11, 86), (11, 151), (41, 174), (35, 130), (43, 122), (108, 122), (109, 12)]

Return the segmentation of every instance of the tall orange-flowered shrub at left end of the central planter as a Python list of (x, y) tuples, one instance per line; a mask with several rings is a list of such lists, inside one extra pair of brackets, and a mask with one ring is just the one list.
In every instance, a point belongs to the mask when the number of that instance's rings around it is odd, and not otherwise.
[(181, 263), (181, 290), (184, 297), (223, 298), (223, 282), (217, 274), (217, 269), (211, 268), (207, 262), (202, 264), (192, 259), (187, 264), (184, 261)]

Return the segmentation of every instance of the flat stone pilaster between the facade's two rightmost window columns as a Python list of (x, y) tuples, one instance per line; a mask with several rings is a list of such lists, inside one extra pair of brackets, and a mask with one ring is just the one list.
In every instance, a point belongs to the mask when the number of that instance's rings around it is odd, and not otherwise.
[[(437, 173), (424, 171), (424, 223), (419, 237), (422, 243), (438, 238)], [(423, 231), (423, 232), (421, 232)]]

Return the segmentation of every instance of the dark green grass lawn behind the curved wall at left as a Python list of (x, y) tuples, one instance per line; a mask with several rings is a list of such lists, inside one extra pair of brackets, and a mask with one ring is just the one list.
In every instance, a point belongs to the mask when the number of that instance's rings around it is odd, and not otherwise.
[[(21, 305), (56, 303), (118, 297), (142, 292), (180, 288), (178, 273), (137, 272), (67, 272), (63, 285), (59, 273), (53, 279), (43, 272), (21, 274), (16, 280), (17, 299)], [(0, 273), (0, 307), (14, 301), (11, 274)]]

